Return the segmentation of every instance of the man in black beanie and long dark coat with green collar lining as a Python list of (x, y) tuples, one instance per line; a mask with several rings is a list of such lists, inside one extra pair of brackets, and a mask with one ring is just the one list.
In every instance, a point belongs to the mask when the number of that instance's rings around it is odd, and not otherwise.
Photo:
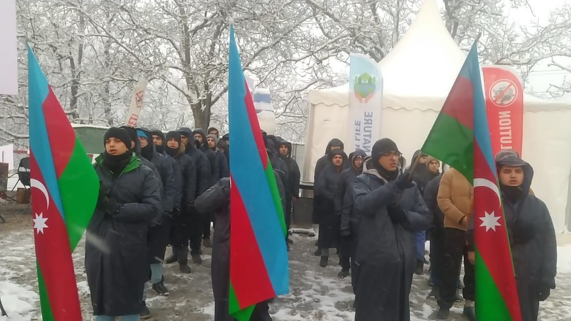
[(87, 226), (85, 271), (96, 321), (139, 320), (150, 275), (148, 226), (162, 213), (160, 182), (131, 150), (131, 137), (111, 127), (96, 157), (99, 197)]

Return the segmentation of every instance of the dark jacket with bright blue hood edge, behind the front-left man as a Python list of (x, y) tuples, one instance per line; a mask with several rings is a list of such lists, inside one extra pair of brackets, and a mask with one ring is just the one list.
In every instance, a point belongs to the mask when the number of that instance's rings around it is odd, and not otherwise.
[(163, 216), (159, 216), (155, 224), (162, 224), (166, 219), (166, 216), (172, 212), (174, 208), (174, 198), (175, 198), (175, 178), (172, 173), (171, 162), (167, 159), (168, 156), (164, 156), (155, 151), (155, 144), (152, 143), (151, 132), (146, 128), (139, 128), (140, 131), (146, 133), (148, 139), (148, 145), (141, 148), (141, 155), (151, 161), (155, 165), (156, 170), (159, 173), (160, 181), (162, 183), (162, 203), (163, 203)]

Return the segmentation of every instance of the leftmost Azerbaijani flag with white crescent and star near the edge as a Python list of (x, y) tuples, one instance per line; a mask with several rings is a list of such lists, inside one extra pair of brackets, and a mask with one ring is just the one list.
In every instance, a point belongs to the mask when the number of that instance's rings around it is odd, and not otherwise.
[(31, 207), (42, 319), (78, 321), (71, 253), (93, 215), (99, 179), (29, 46), (27, 51)]

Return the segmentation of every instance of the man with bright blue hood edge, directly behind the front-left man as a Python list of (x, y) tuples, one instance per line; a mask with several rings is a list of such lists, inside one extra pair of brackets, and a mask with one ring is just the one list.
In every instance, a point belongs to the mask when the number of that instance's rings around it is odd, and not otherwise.
[[(151, 222), (151, 227), (148, 231), (148, 260), (151, 265), (151, 285), (152, 289), (160, 295), (167, 295), (168, 290), (164, 287), (163, 283), (163, 261), (164, 253), (168, 244), (168, 235), (170, 233), (170, 219), (168, 216), (172, 213), (174, 208), (175, 196), (175, 178), (172, 173), (172, 165), (168, 160), (168, 156), (164, 156), (155, 151), (155, 145), (151, 142), (151, 132), (145, 128), (137, 129), (139, 136), (139, 143), (141, 147), (141, 155), (152, 162), (160, 175), (162, 183), (162, 203), (163, 212), (155, 221)], [(146, 299), (147, 287), (143, 296)], [(143, 308), (142, 316), (147, 316), (148, 309)], [(150, 312), (148, 312), (150, 315)]]

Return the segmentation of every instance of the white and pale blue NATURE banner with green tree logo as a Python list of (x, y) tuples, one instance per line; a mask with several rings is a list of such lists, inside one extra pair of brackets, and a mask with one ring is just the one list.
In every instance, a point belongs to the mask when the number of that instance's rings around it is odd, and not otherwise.
[(375, 60), (351, 54), (349, 66), (349, 113), (347, 117), (348, 151), (360, 149), (371, 155), (380, 139), (383, 76)]

